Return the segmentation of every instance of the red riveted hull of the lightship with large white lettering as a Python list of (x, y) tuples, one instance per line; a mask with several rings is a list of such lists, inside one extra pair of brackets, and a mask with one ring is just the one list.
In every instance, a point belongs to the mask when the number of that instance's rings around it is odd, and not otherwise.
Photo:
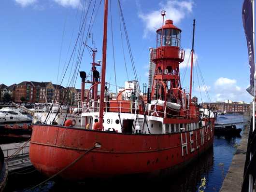
[(100, 149), (85, 154), (59, 176), (83, 180), (124, 174), (160, 174), (183, 167), (213, 145), (214, 120), (211, 121), (211, 127), (159, 135), (34, 125), (29, 156), (37, 170), (52, 176), (98, 142)]

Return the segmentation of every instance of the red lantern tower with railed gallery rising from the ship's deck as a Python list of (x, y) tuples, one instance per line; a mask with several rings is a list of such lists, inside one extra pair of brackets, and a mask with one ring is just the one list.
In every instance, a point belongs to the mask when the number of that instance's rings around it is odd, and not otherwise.
[(179, 64), (184, 61), (185, 51), (181, 48), (181, 29), (166, 20), (162, 11), (163, 25), (156, 30), (156, 49), (152, 61), (156, 64), (151, 99), (178, 103), (184, 106), (184, 92), (181, 88)]

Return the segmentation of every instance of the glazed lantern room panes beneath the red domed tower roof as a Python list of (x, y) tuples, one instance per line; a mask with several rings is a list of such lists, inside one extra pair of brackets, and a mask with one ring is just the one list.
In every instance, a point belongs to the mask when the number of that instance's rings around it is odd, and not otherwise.
[[(162, 30), (157, 31), (157, 44), (156, 47), (161, 46)], [(166, 28), (163, 29), (162, 46), (175, 46), (180, 47), (181, 32), (177, 29)]]

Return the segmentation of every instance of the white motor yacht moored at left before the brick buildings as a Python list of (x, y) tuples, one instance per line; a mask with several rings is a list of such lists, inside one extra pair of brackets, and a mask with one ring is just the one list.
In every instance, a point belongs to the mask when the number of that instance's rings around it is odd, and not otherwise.
[(3, 123), (29, 123), (32, 119), (21, 109), (2, 108), (0, 109), (0, 124)]

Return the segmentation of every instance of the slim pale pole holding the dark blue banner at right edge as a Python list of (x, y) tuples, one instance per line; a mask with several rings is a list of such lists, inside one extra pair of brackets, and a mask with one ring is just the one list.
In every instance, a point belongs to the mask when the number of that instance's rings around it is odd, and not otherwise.
[[(254, 18), (254, 13), (255, 13), (255, 0), (252, 0), (252, 7), (253, 7), (253, 55), (255, 57), (255, 18)], [(256, 98), (256, 78), (255, 78), (255, 69), (256, 69), (256, 66), (255, 66), (255, 58), (254, 58), (254, 98), (253, 98), (253, 131), (255, 130), (255, 98)], [(252, 152), (250, 152), (250, 160), (252, 159)], [(249, 192), (253, 192), (253, 176), (250, 174), (249, 175), (249, 188), (248, 188), (248, 191)]]

